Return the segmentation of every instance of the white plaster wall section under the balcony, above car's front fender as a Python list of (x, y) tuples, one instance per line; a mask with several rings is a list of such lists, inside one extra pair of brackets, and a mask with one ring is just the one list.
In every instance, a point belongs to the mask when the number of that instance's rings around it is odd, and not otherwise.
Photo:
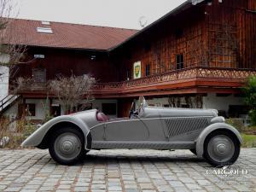
[(228, 112), (230, 105), (243, 105), (241, 96), (216, 96), (216, 94), (208, 94), (203, 97), (203, 108), (215, 108)]

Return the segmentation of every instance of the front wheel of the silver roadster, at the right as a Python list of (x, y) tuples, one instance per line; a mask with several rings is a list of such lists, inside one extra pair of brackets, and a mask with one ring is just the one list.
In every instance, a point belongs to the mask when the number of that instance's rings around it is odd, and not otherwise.
[(204, 143), (204, 158), (212, 166), (228, 166), (236, 162), (240, 142), (230, 131), (213, 131)]

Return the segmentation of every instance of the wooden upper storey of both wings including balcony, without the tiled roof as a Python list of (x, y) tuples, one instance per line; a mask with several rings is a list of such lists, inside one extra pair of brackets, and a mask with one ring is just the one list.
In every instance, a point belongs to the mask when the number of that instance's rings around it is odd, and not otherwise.
[[(33, 59), (37, 54), (44, 59)], [(98, 80), (96, 98), (117, 98), (125, 110), (141, 95), (239, 94), (247, 77), (256, 75), (256, 3), (187, 2), (114, 49), (29, 47), (27, 55), (32, 61), (20, 64), (16, 77), (32, 77), (38, 68), (45, 69), (46, 81), (89, 73)], [(140, 79), (132, 77), (136, 61), (142, 63)], [(43, 98), (46, 92), (31, 86), (20, 94)]]

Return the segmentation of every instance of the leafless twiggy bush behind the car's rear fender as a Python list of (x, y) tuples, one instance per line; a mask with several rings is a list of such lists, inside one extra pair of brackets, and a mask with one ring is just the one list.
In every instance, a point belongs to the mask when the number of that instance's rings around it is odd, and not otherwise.
[(96, 80), (90, 79), (89, 75), (58, 76), (57, 79), (49, 82), (49, 90), (57, 96), (65, 113), (73, 113), (77, 111), (81, 102), (89, 102), (93, 99), (90, 90), (95, 83)]

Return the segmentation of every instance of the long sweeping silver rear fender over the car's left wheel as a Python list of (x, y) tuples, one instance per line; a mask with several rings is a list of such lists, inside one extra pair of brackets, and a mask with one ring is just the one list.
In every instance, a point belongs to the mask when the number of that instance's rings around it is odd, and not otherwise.
[(44, 139), (46, 133), (54, 126), (61, 122), (68, 122), (72, 123), (74, 125), (77, 125), (81, 131), (84, 133), (84, 148), (87, 146), (87, 136), (90, 133), (90, 129), (88, 126), (79, 118), (76, 118), (75, 116), (71, 115), (62, 115), (59, 117), (56, 117), (54, 119), (49, 120), (47, 123), (42, 125), (40, 128), (38, 128), (37, 131), (33, 132), (30, 137), (27, 137), (26, 140), (21, 143), (22, 147), (25, 146), (32, 146), (37, 147)]

